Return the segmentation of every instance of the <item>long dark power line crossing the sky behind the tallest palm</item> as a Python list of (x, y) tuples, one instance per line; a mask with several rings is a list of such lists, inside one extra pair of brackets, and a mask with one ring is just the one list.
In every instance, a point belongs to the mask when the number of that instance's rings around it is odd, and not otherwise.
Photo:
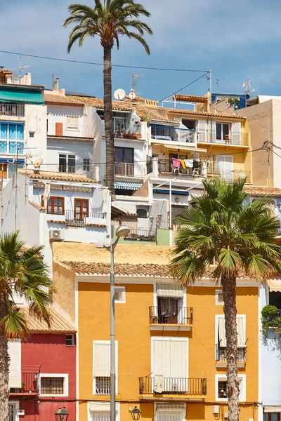
[[(86, 61), (80, 61), (80, 60), (70, 60), (70, 59), (67, 59), (67, 58), (46, 57), (44, 55), (15, 53), (13, 51), (0, 50), (0, 53), (20, 55), (20, 56), (23, 56), (23, 57), (42, 58), (44, 60), (55, 60), (55, 61), (61, 61), (61, 62), (80, 63), (82, 65), (103, 66), (103, 63), (98, 63), (98, 62), (86, 62)], [(164, 72), (197, 72), (197, 73), (207, 73), (207, 72), (209, 72), (209, 70), (170, 69), (170, 68), (164, 68), (164, 67), (144, 67), (144, 66), (128, 66), (128, 65), (112, 65), (112, 67), (122, 67), (122, 68), (126, 68), (126, 69), (163, 70)]]

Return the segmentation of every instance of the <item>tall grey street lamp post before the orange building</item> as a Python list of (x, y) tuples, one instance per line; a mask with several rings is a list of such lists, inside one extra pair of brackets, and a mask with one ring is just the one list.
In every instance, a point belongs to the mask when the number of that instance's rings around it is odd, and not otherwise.
[(110, 421), (115, 421), (115, 268), (114, 268), (114, 251), (119, 238), (128, 235), (130, 229), (126, 225), (119, 225), (116, 229), (117, 239), (110, 244), (98, 241), (96, 247), (106, 248), (110, 251)]

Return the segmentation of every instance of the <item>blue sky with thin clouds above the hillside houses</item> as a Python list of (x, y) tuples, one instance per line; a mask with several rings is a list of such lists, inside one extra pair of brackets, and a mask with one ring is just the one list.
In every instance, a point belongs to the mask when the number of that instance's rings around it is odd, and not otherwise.
[[(147, 36), (151, 55), (137, 41), (120, 40), (112, 63), (148, 67), (212, 69), (219, 81), (213, 91), (242, 92), (251, 79), (259, 95), (281, 95), (281, 2), (279, 0), (139, 0), (151, 13), (153, 36)], [(93, 4), (92, 0), (82, 3)], [(98, 39), (88, 39), (83, 48), (67, 54), (63, 28), (70, 0), (1, 0), (1, 50), (18, 53), (103, 61)], [(22, 57), (32, 65), (32, 83), (51, 88), (52, 74), (59, 74), (67, 91), (103, 96), (103, 67)], [(18, 73), (19, 58), (0, 53), (0, 65)], [(200, 74), (142, 69), (112, 69), (112, 88), (131, 89), (132, 73), (145, 73), (138, 80), (138, 94), (161, 100), (197, 79)], [(202, 95), (209, 81), (202, 78), (182, 93)]]

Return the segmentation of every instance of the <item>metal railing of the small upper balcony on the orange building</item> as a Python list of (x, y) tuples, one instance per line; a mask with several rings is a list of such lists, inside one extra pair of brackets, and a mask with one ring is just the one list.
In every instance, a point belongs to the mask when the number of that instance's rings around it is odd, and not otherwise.
[(150, 306), (150, 324), (182, 324), (193, 323), (193, 307)]

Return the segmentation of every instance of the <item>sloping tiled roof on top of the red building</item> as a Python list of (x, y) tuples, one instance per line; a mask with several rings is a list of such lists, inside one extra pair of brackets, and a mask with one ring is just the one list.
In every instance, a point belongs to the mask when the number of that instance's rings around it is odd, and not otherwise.
[(75, 333), (76, 329), (67, 320), (63, 318), (58, 312), (49, 307), (51, 314), (51, 327), (48, 328), (46, 321), (39, 320), (37, 317), (30, 314), (28, 307), (19, 306), (20, 311), (25, 315), (27, 321), (27, 328), (31, 333)]

